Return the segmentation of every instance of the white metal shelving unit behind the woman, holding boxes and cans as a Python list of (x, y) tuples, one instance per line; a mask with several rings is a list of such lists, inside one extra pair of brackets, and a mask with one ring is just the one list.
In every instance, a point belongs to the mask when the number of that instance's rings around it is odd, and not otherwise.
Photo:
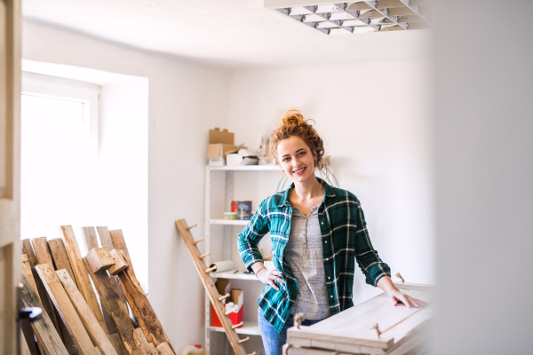
[[(274, 171), (273, 165), (243, 165), (243, 166), (207, 166), (205, 167), (205, 235), (204, 245), (205, 253), (211, 251), (211, 225), (224, 225), (224, 245), (231, 246), (232, 229), (235, 225), (245, 226), (249, 221), (236, 221), (225, 219), (211, 219), (211, 171), (226, 171), (226, 194), (224, 206), (227, 210), (230, 209), (231, 201), (233, 200), (233, 185), (235, 171)], [(279, 168), (278, 168), (279, 170)], [(222, 215), (220, 211), (220, 216)], [(232, 250), (230, 247), (224, 249), (224, 260), (231, 259)], [(210, 256), (204, 258), (206, 264), (210, 264)], [(259, 281), (253, 274), (244, 273), (241, 270), (230, 270), (227, 272), (212, 272), (211, 277), (220, 277), (234, 280), (251, 280)], [(243, 335), (260, 335), (259, 325), (257, 323), (246, 322), (243, 327), (235, 329), (238, 334)], [(208, 296), (205, 296), (205, 353), (211, 353), (211, 331), (224, 332), (222, 327), (211, 327), (211, 303)]]

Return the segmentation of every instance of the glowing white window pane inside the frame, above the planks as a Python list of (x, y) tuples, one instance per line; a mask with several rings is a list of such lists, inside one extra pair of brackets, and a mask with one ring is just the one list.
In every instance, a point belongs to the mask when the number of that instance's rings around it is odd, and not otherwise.
[(86, 104), (33, 94), (21, 101), (21, 238), (58, 238), (60, 225), (79, 231), (95, 168)]

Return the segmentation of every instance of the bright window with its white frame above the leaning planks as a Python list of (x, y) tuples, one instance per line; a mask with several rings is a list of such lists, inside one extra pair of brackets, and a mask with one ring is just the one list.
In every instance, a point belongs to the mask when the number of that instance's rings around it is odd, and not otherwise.
[(91, 225), (98, 169), (99, 87), (23, 74), (21, 98), (20, 234), (60, 237)]

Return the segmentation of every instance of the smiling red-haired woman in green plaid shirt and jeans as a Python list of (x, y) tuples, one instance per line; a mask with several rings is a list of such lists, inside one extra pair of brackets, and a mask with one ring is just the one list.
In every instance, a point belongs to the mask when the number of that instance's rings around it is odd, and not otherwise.
[[(259, 329), (267, 355), (281, 355), (294, 315), (310, 326), (352, 307), (355, 260), (366, 282), (392, 304), (421, 301), (394, 287), (390, 269), (372, 248), (361, 204), (353, 193), (314, 176), (323, 166), (322, 138), (298, 110), (288, 111), (270, 138), (270, 157), (294, 182), (262, 201), (239, 234), (248, 270), (267, 284), (259, 297)], [(270, 232), (276, 270), (263, 264), (259, 241)]]

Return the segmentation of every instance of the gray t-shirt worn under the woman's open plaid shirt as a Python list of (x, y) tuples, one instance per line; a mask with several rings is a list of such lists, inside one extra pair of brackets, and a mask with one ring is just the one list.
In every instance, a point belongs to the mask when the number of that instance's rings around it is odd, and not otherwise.
[(326, 275), (322, 254), (322, 233), (318, 223), (318, 208), (305, 216), (292, 208), (290, 235), (283, 258), (298, 281), (298, 296), (290, 314), (304, 313), (304, 319), (324, 319), (330, 316), (326, 291)]

